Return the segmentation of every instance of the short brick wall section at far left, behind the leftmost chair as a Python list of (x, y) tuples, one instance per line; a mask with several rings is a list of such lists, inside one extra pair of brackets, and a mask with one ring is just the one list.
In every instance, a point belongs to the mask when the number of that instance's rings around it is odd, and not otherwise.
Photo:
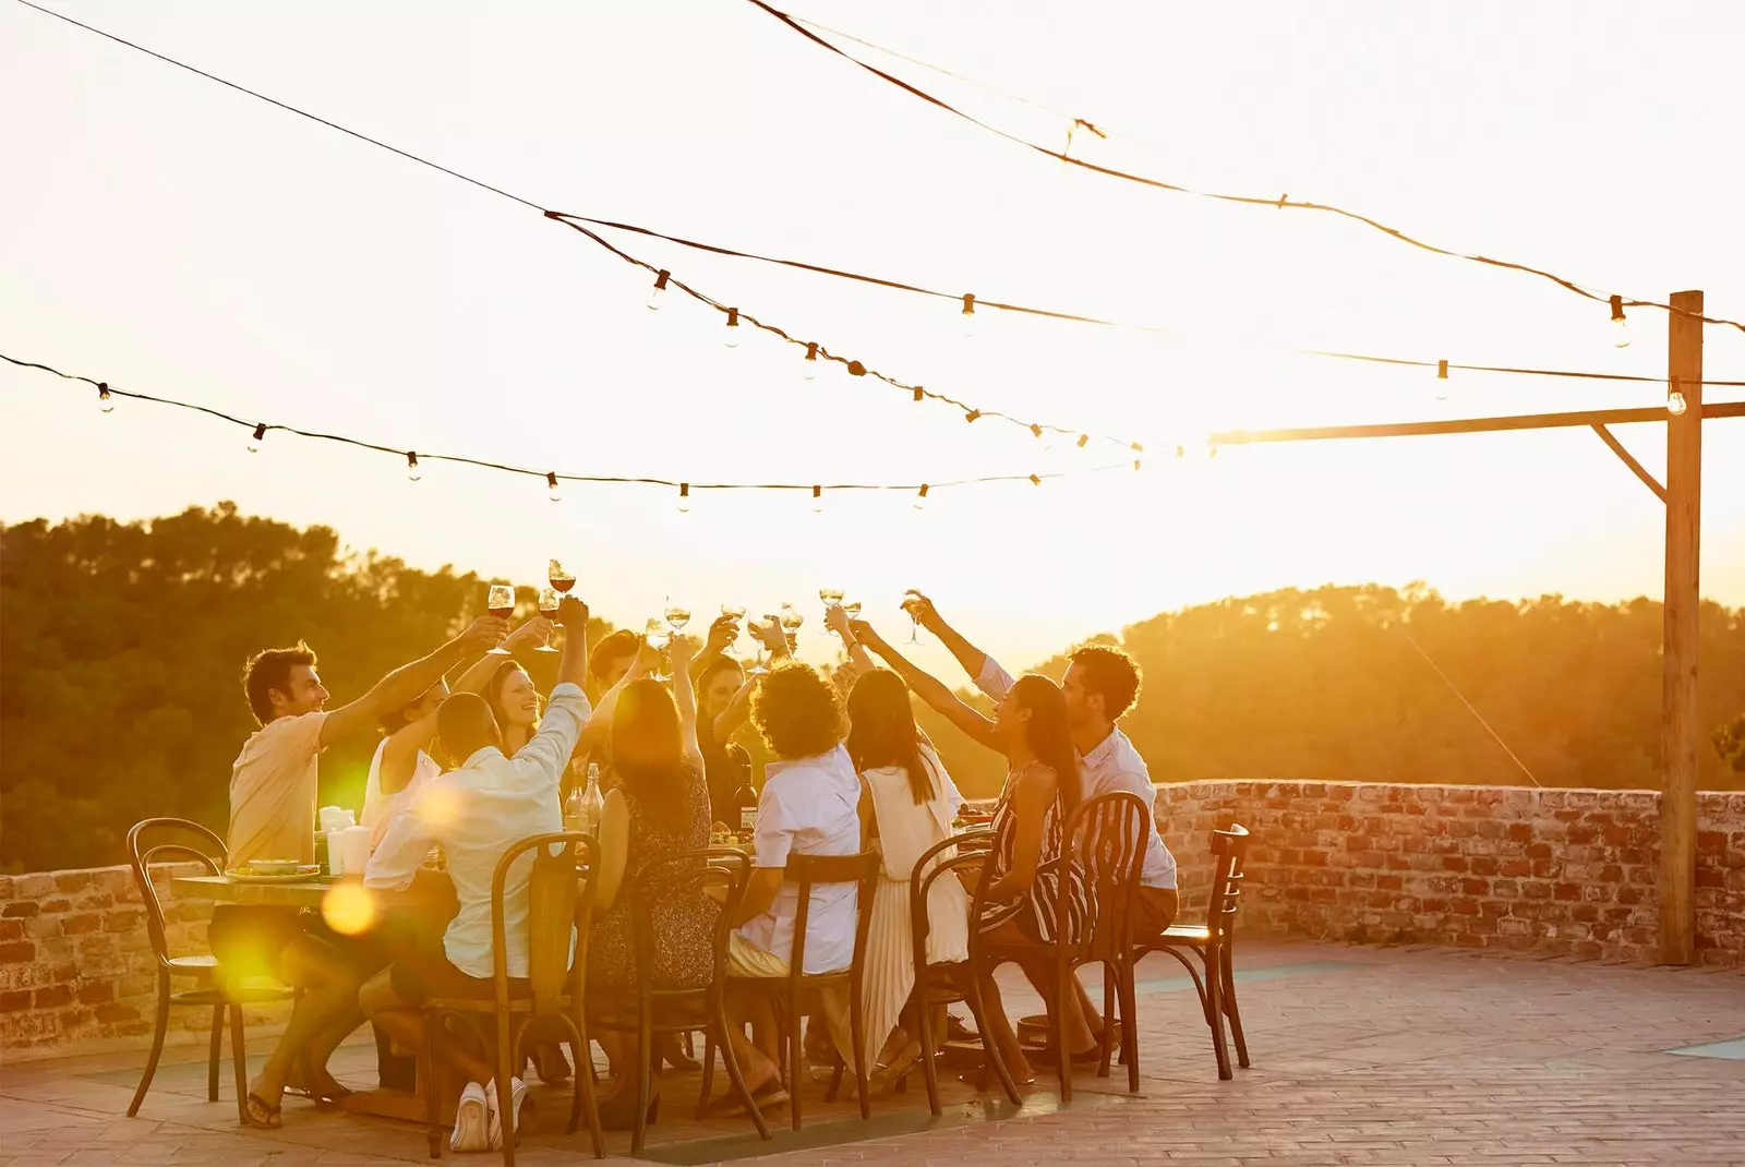
[[(152, 869), (164, 904), (173, 956), (206, 952), (211, 904), (178, 900), (173, 874), (197, 863)], [(194, 987), (176, 979), (178, 989)], [(145, 907), (127, 867), (0, 876), (0, 1048), (98, 1052), (150, 1043), (157, 1008), (157, 961)], [(283, 1020), (281, 1007), (250, 1007), (251, 1026)], [(174, 1008), (169, 1041), (197, 1041), (211, 1010)]]

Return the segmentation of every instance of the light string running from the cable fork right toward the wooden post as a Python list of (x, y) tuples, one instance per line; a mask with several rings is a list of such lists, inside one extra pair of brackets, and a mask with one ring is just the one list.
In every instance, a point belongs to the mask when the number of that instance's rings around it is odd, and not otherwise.
[[(637, 223), (623, 223), (623, 222), (616, 222), (616, 220), (609, 220), (609, 218), (593, 218), (590, 215), (572, 215), (569, 211), (546, 211), (546, 218), (553, 218), (553, 220), (557, 220), (560, 223), (574, 227), (576, 230), (583, 230), (581, 223), (590, 223), (593, 227), (606, 227), (609, 230), (623, 230), (623, 232), (630, 232), (630, 234), (635, 234), (635, 235), (646, 235), (649, 239), (661, 239), (665, 242), (672, 242), (672, 244), (677, 244), (681, 248), (689, 248), (693, 251), (705, 251), (708, 255), (721, 255), (721, 256), (728, 256), (728, 258), (735, 258), (735, 260), (752, 260), (756, 263), (773, 263), (777, 267), (790, 267), (790, 269), (796, 269), (796, 270), (801, 270), (801, 272), (813, 272), (813, 274), (818, 274), (818, 276), (831, 276), (834, 279), (850, 279), (850, 281), (857, 281), (857, 283), (864, 283), (864, 284), (872, 284), (876, 288), (888, 288), (892, 291), (907, 291), (907, 293), (914, 293), (914, 295), (920, 295), (920, 297), (930, 297), (930, 298), (935, 298), (935, 300), (951, 300), (951, 302), (961, 302), (963, 300), (963, 295), (956, 293), (956, 291), (941, 291), (937, 288), (923, 288), (920, 284), (913, 284), (913, 283), (907, 283), (907, 281), (902, 281), (902, 279), (886, 279), (883, 276), (869, 276), (866, 272), (853, 272), (853, 270), (848, 270), (848, 269), (829, 267), (829, 265), (824, 265), (824, 263), (810, 263), (806, 260), (789, 260), (789, 258), (773, 256), (773, 255), (761, 255), (757, 251), (740, 251), (736, 248), (728, 248), (728, 246), (715, 244), (715, 242), (701, 242), (701, 241), (696, 241), (696, 239), (686, 239), (684, 235), (668, 235), (667, 232), (654, 230), (653, 227), (640, 227)], [(604, 242), (597, 234), (593, 234), (590, 230), (583, 230), (583, 234), (586, 234), (595, 242), (600, 242), (602, 246), (611, 248), (611, 244)], [(656, 277), (658, 277), (660, 270), (665, 270), (665, 269), (656, 269), (653, 263), (646, 263), (642, 260), (637, 260), (635, 256), (625, 256), (616, 248), (612, 248), (612, 251), (616, 255), (619, 255), (621, 258), (628, 258), (632, 263), (637, 263), (639, 267), (644, 267), (644, 269), (647, 269), (651, 272), (656, 272)], [(670, 272), (667, 272), (667, 274), (668, 274), (668, 281), (663, 283), (661, 286), (663, 288), (675, 286), (670, 281), (672, 274)], [(974, 300), (975, 300), (975, 309), (977, 311), (981, 311), (981, 309), (991, 309), (991, 311), (998, 311), (998, 312), (1016, 312), (1016, 314), (1021, 314), (1021, 316), (1040, 316), (1040, 317), (1045, 317), (1045, 319), (1073, 321), (1073, 323), (1078, 323), (1078, 324), (1094, 324), (1094, 326), (1101, 326), (1101, 328), (1122, 328), (1122, 330), (1141, 331), (1141, 333), (1178, 333), (1178, 335), (1185, 333), (1185, 330), (1169, 328), (1166, 324), (1133, 324), (1133, 323), (1108, 319), (1108, 317), (1101, 317), (1101, 316), (1091, 316), (1091, 314), (1085, 314), (1085, 312), (1066, 312), (1066, 311), (1061, 311), (1061, 309), (1044, 309), (1044, 307), (1033, 307), (1033, 305), (1028, 305), (1028, 304), (1009, 304), (1009, 302), (1003, 302), (1003, 300), (984, 300), (982, 297), (975, 297)], [(712, 307), (719, 307), (712, 300), (705, 300), (705, 302), (710, 304)], [(740, 312), (740, 319), (745, 319), (743, 311)], [(785, 333), (784, 333), (784, 337), (785, 337)], [(804, 347), (810, 342), (794, 340), (792, 344), (797, 344), (797, 345)], [(1665, 377), (1642, 377), (1642, 375), (1632, 375), (1632, 373), (1593, 373), (1593, 372), (1572, 372), (1572, 370), (1558, 370), (1558, 368), (1525, 368), (1525, 366), (1513, 366), (1513, 365), (1462, 365), (1459, 361), (1447, 361), (1447, 359), (1424, 361), (1424, 359), (1408, 359), (1408, 358), (1396, 358), (1396, 356), (1375, 356), (1375, 354), (1370, 354), (1370, 352), (1338, 352), (1338, 351), (1333, 351), (1333, 349), (1302, 349), (1302, 347), (1291, 347), (1291, 345), (1274, 345), (1274, 351), (1293, 352), (1293, 354), (1298, 354), (1298, 356), (1319, 356), (1319, 358), (1330, 358), (1330, 359), (1337, 359), (1337, 361), (1363, 361), (1363, 363), (1372, 363), (1372, 365), (1401, 365), (1401, 366), (1406, 366), (1406, 368), (1434, 368), (1438, 372), (1441, 372), (1441, 370), (1454, 370), (1454, 372), (1468, 372), (1468, 373), (1513, 373), (1513, 375), (1520, 375), (1520, 377), (1572, 377), (1572, 379), (1586, 379), (1586, 380), (1625, 380), (1625, 382), (1640, 382), (1640, 384), (1665, 384), (1666, 382)], [(831, 359), (841, 359), (841, 358), (831, 358)], [(1745, 380), (1705, 380), (1703, 384), (1705, 386), (1735, 386), (1736, 387), (1736, 386), (1745, 386)], [(928, 396), (935, 396), (935, 394), (928, 392)], [(953, 401), (951, 398), (939, 398), (939, 399), (951, 401), (953, 405), (961, 405), (958, 401)], [(988, 413), (984, 413), (984, 415), (988, 415)], [(1028, 422), (1023, 422), (1023, 424), (1028, 424)], [(1119, 438), (1113, 438), (1112, 441), (1119, 441)]]

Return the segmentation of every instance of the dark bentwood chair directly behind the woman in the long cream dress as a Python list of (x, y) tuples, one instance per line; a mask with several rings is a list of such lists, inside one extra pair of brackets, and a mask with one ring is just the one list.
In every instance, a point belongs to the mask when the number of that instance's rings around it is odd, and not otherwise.
[[(914, 874), (909, 877), (909, 928), (914, 942), (914, 991), (909, 1000), (914, 1005), (920, 1041), (921, 1041), (921, 1073), (927, 1080), (927, 1104), (932, 1108), (934, 1115), (942, 1115), (942, 1106), (939, 1101), (939, 1036), (934, 1034), (934, 1010), (956, 1005), (963, 1001), (970, 1007), (970, 1013), (975, 1017), (975, 1029), (982, 1041), (982, 1059), (988, 1069), (1000, 1078), (1000, 1085), (1005, 1089), (1005, 1095), (1012, 1099), (1012, 1106), (1023, 1106), (1024, 1099), (1017, 1092), (1017, 1083), (1012, 1082), (1012, 1071), (1005, 1068), (1005, 1061), (1000, 1057), (1000, 1050), (995, 1047), (989, 1036), (988, 1019), (984, 1013), (981, 980), (975, 977), (975, 945), (977, 933), (974, 923), (970, 925), (970, 959), (965, 965), (928, 965), (927, 963), (927, 935), (932, 932), (932, 919), (927, 912), (928, 893), (937, 879), (960, 879), (958, 872), (974, 870), (977, 872), (975, 884), (977, 893), (970, 902), (970, 921), (977, 918), (977, 909), (981, 905), (981, 891), (986, 890), (989, 879), (988, 874), (993, 869), (989, 862), (993, 855), (993, 832), (991, 830), (970, 830), (944, 843), (930, 846), (914, 862)], [(904, 1089), (909, 1075), (904, 1073), (897, 1080), (897, 1089)], [(981, 1087), (986, 1090), (986, 1073), (982, 1075)]]

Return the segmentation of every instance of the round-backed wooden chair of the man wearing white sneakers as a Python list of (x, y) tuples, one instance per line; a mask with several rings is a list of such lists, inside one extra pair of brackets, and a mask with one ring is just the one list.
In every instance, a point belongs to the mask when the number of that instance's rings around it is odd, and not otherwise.
[[(429, 1083), (424, 1095), (431, 1158), (441, 1158), (441, 1148), (447, 1141), (438, 1066), (450, 1019), (462, 1020), (483, 1048), (496, 1050), (496, 1101), (504, 1125), (504, 1167), (515, 1167), (515, 1144), (520, 1141), (520, 1125), (517, 1123), (513, 1134), (508, 1129), (513, 1122), (510, 1078), (522, 1066), (522, 1052), (534, 1031), (553, 1027), (569, 1038), (571, 1059), (576, 1062), (576, 1095), (569, 1113), (569, 1132), (576, 1134), (581, 1120), (586, 1118), (588, 1134), (593, 1139), (593, 1157), (606, 1158), (600, 1113), (593, 1101), (593, 1075), (588, 1073), (593, 1057), (583, 1008), (588, 925), (593, 918), (592, 867), (595, 848), (593, 836), (564, 830), (529, 836), (510, 846), (497, 860), (497, 869), (490, 877), (494, 1000), (431, 998), (424, 1003), (424, 1052), (419, 1055), (419, 1078)], [(510, 869), (529, 851), (532, 851), (532, 870), (527, 877), (529, 975), (525, 984), (511, 986), (504, 935), (504, 884)], [(574, 958), (569, 940), (571, 926), (576, 933)], [(496, 1031), (494, 1041), (487, 1036), (485, 1026)]]

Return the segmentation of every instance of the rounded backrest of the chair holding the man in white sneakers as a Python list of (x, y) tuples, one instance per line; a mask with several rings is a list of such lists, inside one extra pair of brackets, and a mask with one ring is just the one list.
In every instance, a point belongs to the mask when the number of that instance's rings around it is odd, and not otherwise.
[(555, 1013), (564, 993), (579, 987), (581, 970), (586, 966), (597, 848), (593, 836), (555, 830), (510, 844), (497, 860), (497, 870), (490, 877), (490, 966), (499, 1010), (510, 1007), (504, 897), (511, 869), (532, 851), (527, 872), (527, 982), (534, 1013)]

